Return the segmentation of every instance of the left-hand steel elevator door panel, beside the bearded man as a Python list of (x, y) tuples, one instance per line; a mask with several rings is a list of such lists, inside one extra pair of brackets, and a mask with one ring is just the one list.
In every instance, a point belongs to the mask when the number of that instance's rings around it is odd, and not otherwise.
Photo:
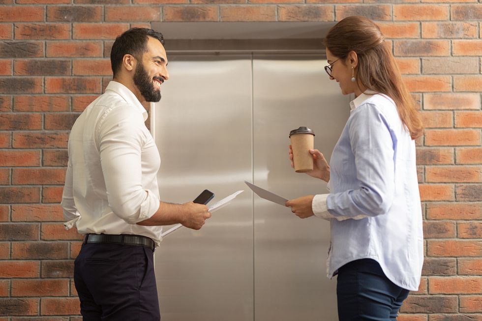
[[(192, 201), (207, 188), (213, 204), (252, 177), (251, 55), (226, 57), (169, 56), (153, 124), (165, 202)], [(163, 321), (253, 320), (252, 220), (245, 192), (201, 230), (164, 238), (155, 252)]]

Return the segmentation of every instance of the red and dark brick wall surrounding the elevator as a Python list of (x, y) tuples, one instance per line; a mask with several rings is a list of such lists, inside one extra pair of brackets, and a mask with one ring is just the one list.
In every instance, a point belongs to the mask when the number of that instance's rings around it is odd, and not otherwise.
[[(0, 321), (76, 320), (68, 130), (115, 36), (157, 21), (376, 20), (420, 101), (426, 258), (401, 321), (482, 321), (482, 0), (0, 0)], [(115, 5), (114, 5), (115, 3)], [(33, 319), (25, 319), (35, 316)]]

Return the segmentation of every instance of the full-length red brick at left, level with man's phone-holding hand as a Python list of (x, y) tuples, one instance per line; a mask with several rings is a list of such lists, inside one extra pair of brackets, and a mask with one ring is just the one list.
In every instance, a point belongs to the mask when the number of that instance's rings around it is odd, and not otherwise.
[(63, 222), (60, 204), (13, 204), (13, 222)]

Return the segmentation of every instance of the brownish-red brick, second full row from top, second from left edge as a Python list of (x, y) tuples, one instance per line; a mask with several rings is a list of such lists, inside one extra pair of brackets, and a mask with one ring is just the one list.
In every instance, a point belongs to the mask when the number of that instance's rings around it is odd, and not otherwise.
[(15, 39), (70, 39), (69, 24), (15, 24)]

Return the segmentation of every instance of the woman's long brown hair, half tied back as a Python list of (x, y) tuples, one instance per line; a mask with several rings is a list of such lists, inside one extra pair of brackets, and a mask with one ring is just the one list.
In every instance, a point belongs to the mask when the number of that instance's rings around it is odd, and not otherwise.
[(422, 136), (422, 119), (414, 99), (402, 81), (390, 46), (373, 21), (361, 16), (347, 17), (328, 31), (324, 43), (333, 56), (343, 60), (351, 51), (356, 52), (359, 87), (361, 84), (391, 97), (412, 139)]

